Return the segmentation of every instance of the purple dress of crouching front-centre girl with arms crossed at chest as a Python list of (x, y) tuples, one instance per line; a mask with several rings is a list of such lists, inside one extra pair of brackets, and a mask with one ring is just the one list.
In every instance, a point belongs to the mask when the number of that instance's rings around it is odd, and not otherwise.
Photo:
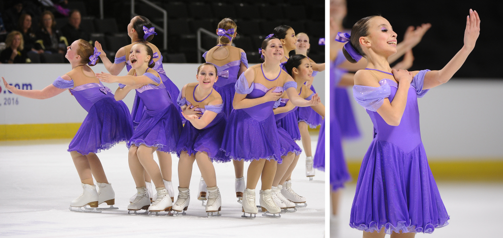
[(220, 150), (222, 145), (223, 133), (225, 131), (226, 116), (223, 112), (223, 103), (218, 105), (209, 105), (211, 101), (221, 100), (220, 94), (216, 90), (203, 100), (198, 101), (194, 98), (194, 92), (198, 83), (189, 83), (185, 89), (185, 97), (182, 98), (182, 92), (178, 95), (177, 103), (179, 106), (187, 105), (190, 108), (199, 106), (197, 111), (205, 113), (205, 111), (213, 111), (217, 113), (216, 117), (208, 126), (203, 129), (196, 129), (187, 121), (180, 135), (180, 140), (177, 144), (177, 155), (180, 158), (182, 151), (186, 151), (189, 155), (196, 155), (196, 152), (206, 152), (208, 157), (213, 162), (229, 162), (230, 158), (225, 156), (225, 153)]

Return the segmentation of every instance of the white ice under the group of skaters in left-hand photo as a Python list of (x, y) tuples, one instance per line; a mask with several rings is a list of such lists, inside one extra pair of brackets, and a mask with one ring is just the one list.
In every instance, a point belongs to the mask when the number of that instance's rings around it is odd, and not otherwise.
[[(222, 195), (222, 216), (206, 217), (197, 200), (201, 173), (194, 163), (191, 202), (185, 216), (128, 215), (129, 198), (136, 188), (129, 172), (127, 148), (120, 143), (98, 154), (115, 191), (119, 210), (102, 213), (72, 212), (70, 201), (82, 192), (70, 157), (70, 140), (0, 142), (0, 236), (11, 237), (323, 237), (325, 216), (324, 173), (313, 181), (305, 177), (302, 154), (292, 174), (292, 189), (307, 207), (281, 218), (241, 218), (234, 191), (231, 162), (214, 164)], [(300, 141), (298, 142), (299, 145)], [(312, 148), (316, 148), (313, 137)], [(157, 159), (154, 154), (154, 158)], [(173, 158), (173, 186), (178, 194), (178, 157)], [(245, 163), (244, 176), (249, 163)], [(257, 185), (257, 203), (261, 183)], [(176, 199), (176, 196), (175, 196)], [(104, 207), (107, 205), (102, 204)], [(100, 207), (102, 207), (100, 205)]]

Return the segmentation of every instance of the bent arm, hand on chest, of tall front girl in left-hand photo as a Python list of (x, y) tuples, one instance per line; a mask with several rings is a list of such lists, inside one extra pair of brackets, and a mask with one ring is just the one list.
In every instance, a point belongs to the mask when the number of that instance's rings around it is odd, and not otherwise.
[[(281, 97), (281, 92), (273, 92), (275, 88), (271, 88), (263, 97), (246, 98), (246, 94), (250, 92), (246, 92), (246, 90), (250, 89), (254, 78), (255, 73), (253, 69), (247, 69), (237, 80), (236, 93), (232, 101), (232, 107), (234, 107), (234, 109), (248, 108), (268, 101), (277, 101)], [(237, 87), (240, 87), (241, 90), (238, 90)]]

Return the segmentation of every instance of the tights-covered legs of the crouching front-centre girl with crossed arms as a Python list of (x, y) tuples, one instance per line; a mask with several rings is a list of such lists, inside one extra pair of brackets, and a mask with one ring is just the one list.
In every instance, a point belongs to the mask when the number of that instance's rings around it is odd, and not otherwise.
[(206, 152), (197, 152), (195, 156), (190, 156), (186, 151), (183, 151), (180, 154), (180, 160), (178, 161), (178, 180), (180, 187), (189, 188), (190, 178), (192, 176), (192, 165), (194, 164), (194, 161), (197, 161), (197, 166), (201, 171), (201, 176), (206, 182), (206, 186), (217, 186), (215, 167), (213, 167), (208, 154)]

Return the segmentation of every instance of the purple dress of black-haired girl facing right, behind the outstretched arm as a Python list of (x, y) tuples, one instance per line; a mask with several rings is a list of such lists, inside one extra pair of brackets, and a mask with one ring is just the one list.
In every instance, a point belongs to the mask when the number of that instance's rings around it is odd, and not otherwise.
[[(302, 85), (300, 88), (300, 93), (299, 96), (306, 99), (306, 100), (311, 100), (312, 96), (314, 93), (310, 90), (307, 89), (306, 85)], [(283, 92), (282, 98), (276, 102), (274, 105), (275, 107), (283, 107), (286, 105), (286, 103), (290, 99), (288, 98), (288, 95), (286, 95), (286, 92)], [(279, 135), (279, 140), (280, 140), (280, 147), (281, 147), (281, 153), (282, 156), (286, 156), (288, 153), (292, 152), (295, 153), (295, 155), (300, 155), (302, 150), (300, 149), (299, 145), (295, 143), (295, 140), (292, 138), (290, 133), (285, 129), (285, 125), (283, 125), (283, 120), (285, 117), (290, 116), (291, 118), (295, 118), (295, 114), (293, 113), (298, 107), (294, 107), (292, 110), (287, 111), (287, 112), (282, 112), (275, 114), (275, 120), (276, 120), (276, 126), (278, 127), (278, 135)], [(293, 115), (293, 116), (292, 116)], [(285, 120), (288, 122), (287, 120)], [(295, 129), (297, 128), (297, 131), (299, 130), (299, 127), (297, 126), (297, 122), (295, 121), (294, 125), (291, 125), (290, 129)]]

